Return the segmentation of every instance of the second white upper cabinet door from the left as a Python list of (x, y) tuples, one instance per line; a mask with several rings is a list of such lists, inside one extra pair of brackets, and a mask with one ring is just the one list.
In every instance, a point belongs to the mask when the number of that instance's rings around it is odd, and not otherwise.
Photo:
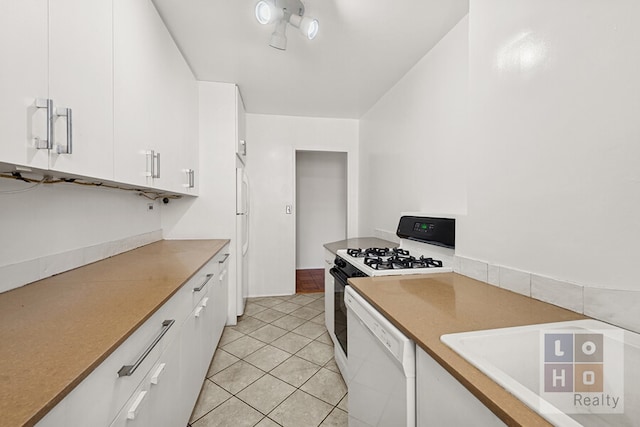
[(55, 119), (49, 168), (113, 179), (112, 1), (50, 1), (49, 23), (49, 98), (72, 114)]

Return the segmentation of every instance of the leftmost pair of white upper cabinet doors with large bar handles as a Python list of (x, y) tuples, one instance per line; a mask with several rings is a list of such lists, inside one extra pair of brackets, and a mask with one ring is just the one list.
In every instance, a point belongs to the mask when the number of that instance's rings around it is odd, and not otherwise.
[(0, 26), (0, 160), (112, 179), (111, 1), (3, 1)]

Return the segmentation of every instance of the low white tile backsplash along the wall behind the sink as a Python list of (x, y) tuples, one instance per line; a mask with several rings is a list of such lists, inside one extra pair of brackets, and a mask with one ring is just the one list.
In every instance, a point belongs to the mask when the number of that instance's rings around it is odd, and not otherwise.
[(640, 333), (640, 291), (582, 286), (459, 255), (454, 271)]

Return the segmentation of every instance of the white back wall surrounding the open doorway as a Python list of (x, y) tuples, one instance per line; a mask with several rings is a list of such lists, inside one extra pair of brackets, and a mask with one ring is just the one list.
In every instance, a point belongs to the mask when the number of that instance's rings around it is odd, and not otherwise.
[(347, 235), (357, 235), (358, 121), (247, 114), (251, 143), (249, 295), (295, 292), (295, 151), (347, 153)]

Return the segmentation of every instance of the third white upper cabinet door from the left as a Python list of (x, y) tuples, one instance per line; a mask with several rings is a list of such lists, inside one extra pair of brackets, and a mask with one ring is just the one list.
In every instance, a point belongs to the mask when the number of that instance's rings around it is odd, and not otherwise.
[(151, 1), (114, 0), (114, 173), (119, 182), (153, 185), (150, 153), (160, 151), (163, 110), (169, 108), (159, 72), (165, 32)]

